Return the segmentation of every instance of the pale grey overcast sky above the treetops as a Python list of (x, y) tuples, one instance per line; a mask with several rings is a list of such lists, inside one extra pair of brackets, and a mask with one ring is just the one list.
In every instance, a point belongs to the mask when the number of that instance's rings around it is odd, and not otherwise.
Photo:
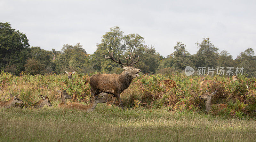
[(209, 37), (220, 51), (236, 58), (245, 49), (256, 51), (255, 9), (255, 0), (0, 0), (0, 22), (26, 34), (30, 46), (47, 50), (80, 42), (92, 54), (102, 35), (119, 26), (124, 34), (140, 34), (162, 56), (174, 51), (176, 41), (195, 54), (195, 43)]

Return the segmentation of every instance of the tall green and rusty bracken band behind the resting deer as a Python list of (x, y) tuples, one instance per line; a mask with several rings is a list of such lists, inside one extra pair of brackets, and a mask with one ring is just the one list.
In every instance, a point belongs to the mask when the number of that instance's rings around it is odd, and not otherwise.
[[(39, 95), (46, 95), (51, 101), (60, 102), (60, 94), (57, 90), (65, 90), (72, 99), (72, 102), (88, 103), (90, 98), (91, 74), (74, 74), (71, 81), (66, 74), (46, 74), (46, 75), (26, 75), (12, 76), (10, 73), (1, 72), (0, 74), (0, 100), (7, 101), (9, 93), (19, 94), (20, 98), (26, 102), (26, 106), (31, 106), (33, 102), (40, 99)], [(134, 78), (129, 88), (121, 94), (124, 108), (167, 108), (169, 111), (193, 111), (204, 112), (204, 101), (198, 98), (198, 94), (205, 93), (205, 89), (210, 92), (217, 91), (213, 96), (212, 102), (218, 104), (231, 104), (228, 108), (230, 113), (214, 112), (213, 114), (225, 115), (228, 117), (242, 114), (244, 116), (255, 117), (254, 107), (256, 104), (256, 79), (255, 77), (247, 78), (246, 75), (238, 76), (239, 80), (231, 81), (231, 77), (206, 76), (207, 80), (222, 81), (212, 86), (201, 89), (199, 88), (198, 76), (187, 77), (184, 73), (172, 72), (170, 75), (148, 75), (143, 74)], [(176, 82), (175, 88), (159, 86), (164, 79), (172, 79)], [(249, 83), (250, 90), (247, 89)], [(44, 89), (39, 86), (43, 86)], [(112, 95), (108, 95), (108, 100)], [(244, 103), (243, 108), (238, 105)], [(116, 105), (119, 103), (116, 101)], [(233, 107), (231, 107), (233, 106)], [(218, 109), (216, 108), (216, 110)], [(238, 117), (241, 117), (238, 115)]]

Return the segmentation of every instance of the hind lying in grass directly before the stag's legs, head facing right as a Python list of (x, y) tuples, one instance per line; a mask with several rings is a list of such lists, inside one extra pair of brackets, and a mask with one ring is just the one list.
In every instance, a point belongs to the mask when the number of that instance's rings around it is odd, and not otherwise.
[(89, 105), (83, 105), (80, 103), (71, 103), (66, 106), (66, 108), (75, 108), (79, 110), (93, 111), (98, 103), (105, 103), (106, 100), (100, 98), (98, 95), (92, 97), (92, 102)]

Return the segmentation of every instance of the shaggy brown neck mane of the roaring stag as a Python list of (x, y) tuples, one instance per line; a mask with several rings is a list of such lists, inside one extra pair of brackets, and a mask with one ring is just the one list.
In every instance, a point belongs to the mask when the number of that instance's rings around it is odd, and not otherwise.
[(123, 71), (119, 74), (118, 82), (121, 83), (121, 91), (123, 92), (126, 88), (128, 88), (132, 82), (132, 76), (130, 76), (127, 71)]

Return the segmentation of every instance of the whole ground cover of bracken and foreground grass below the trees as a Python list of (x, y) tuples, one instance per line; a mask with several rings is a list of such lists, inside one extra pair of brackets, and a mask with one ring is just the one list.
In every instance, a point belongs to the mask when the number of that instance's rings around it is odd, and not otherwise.
[[(0, 141), (254, 141), (256, 127), (255, 77), (206, 76), (222, 81), (199, 88), (198, 76), (183, 73), (170, 75), (142, 74), (121, 94), (124, 110), (118, 106), (99, 104), (93, 112), (60, 109), (60, 94), (65, 90), (68, 102), (89, 103), (90, 74), (75, 74), (69, 81), (66, 74), (13, 76), (0, 74), (0, 100), (19, 94), (25, 102), (13, 108), (0, 108)], [(159, 86), (164, 79), (176, 82), (175, 88)], [(246, 84), (249, 83), (249, 90)], [(206, 114), (204, 101), (198, 95), (205, 89), (218, 93), (213, 103), (228, 104), (219, 111)], [(52, 107), (37, 110), (33, 102), (46, 95)], [(108, 96), (108, 101), (112, 98)]]

